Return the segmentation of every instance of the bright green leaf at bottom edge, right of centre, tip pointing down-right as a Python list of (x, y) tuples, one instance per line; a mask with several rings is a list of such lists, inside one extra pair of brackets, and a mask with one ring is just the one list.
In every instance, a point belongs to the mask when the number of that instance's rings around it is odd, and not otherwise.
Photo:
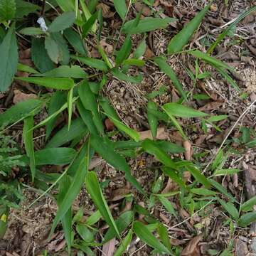
[(159, 240), (149, 231), (146, 225), (139, 221), (135, 221), (133, 229), (137, 237), (146, 242), (147, 245), (153, 247), (159, 252), (170, 254), (169, 250), (161, 242), (159, 242)]

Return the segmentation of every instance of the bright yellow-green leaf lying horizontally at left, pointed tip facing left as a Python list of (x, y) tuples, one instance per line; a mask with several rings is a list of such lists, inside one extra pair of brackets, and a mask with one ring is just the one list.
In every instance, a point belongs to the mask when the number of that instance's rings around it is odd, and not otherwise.
[(58, 90), (70, 90), (73, 85), (74, 81), (70, 78), (23, 78), (23, 77), (18, 77), (15, 78), (17, 80), (22, 80), (25, 82), (31, 82), (36, 85), (41, 85), (44, 87), (49, 87), (53, 89), (58, 89)]

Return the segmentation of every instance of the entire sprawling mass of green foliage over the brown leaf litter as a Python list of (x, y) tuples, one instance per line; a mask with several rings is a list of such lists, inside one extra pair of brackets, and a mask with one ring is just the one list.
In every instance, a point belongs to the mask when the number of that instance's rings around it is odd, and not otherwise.
[[(198, 49), (186, 50), (186, 45), (208, 13), (208, 4), (171, 38), (165, 55), (144, 58), (147, 33), (160, 28), (166, 29), (169, 23), (176, 19), (161, 18), (157, 13), (146, 18), (142, 18), (142, 14), (138, 13), (129, 19), (133, 1), (127, 6), (124, 0), (114, 0), (114, 10), (119, 15), (122, 25), (118, 28), (117, 43), (110, 55), (100, 43), (105, 10), (102, 10), (102, 6), (99, 7), (98, 2), (100, 1), (90, 0), (85, 4), (85, 1), (58, 0), (46, 3), (43, 1), (43, 6), (38, 6), (22, 0), (0, 0), (0, 91), (8, 91), (13, 80), (29, 82), (41, 88), (37, 99), (18, 102), (0, 114), (1, 134), (11, 129), (14, 124), (23, 123), (24, 147), (24, 154), (17, 155), (16, 149), (8, 146), (10, 143), (13, 145), (12, 142), (6, 143), (7, 137), (0, 138), (0, 224), (4, 225), (2, 229), (0, 225), (0, 236), (4, 235), (6, 229), (9, 208), (16, 207), (21, 199), (21, 191), (16, 181), (9, 179), (11, 168), (14, 166), (26, 167), (34, 186), (44, 191), (41, 196), (50, 193), (53, 188), (58, 190), (58, 195), (53, 195), (58, 210), (49, 238), (61, 225), (69, 254), (71, 250), (76, 249), (80, 251), (80, 255), (94, 255), (93, 248), (105, 245), (112, 238), (116, 238), (119, 244), (114, 255), (122, 255), (132, 238), (137, 236), (152, 248), (153, 253), (177, 255), (179, 248), (171, 245), (166, 226), (151, 214), (151, 208), (159, 203), (178, 220), (176, 208), (169, 200), (174, 196), (181, 208), (188, 210), (191, 215), (217, 204), (228, 215), (232, 227), (250, 225), (256, 220), (256, 213), (252, 210), (256, 203), (255, 198), (240, 204), (216, 178), (239, 171), (223, 168), (231, 142), (228, 142), (225, 150), (218, 151), (213, 162), (203, 171), (202, 164), (177, 156), (185, 151), (182, 146), (168, 140), (157, 139), (159, 124), (164, 124), (166, 127), (173, 127), (183, 142), (188, 142), (189, 136), (183, 127), (182, 119), (197, 120), (206, 132), (206, 124), (216, 130), (220, 129), (215, 122), (227, 116), (212, 115), (188, 107), (187, 103), (196, 95), (183, 89), (181, 81), (169, 65), (169, 58), (183, 53), (195, 60), (196, 71), (190, 73), (194, 85), (198, 80), (210, 75), (199, 71), (199, 66), (203, 63), (217, 70), (235, 90), (240, 90), (230, 75), (233, 68), (211, 53), (227, 35), (228, 29), (235, 26), (241, 18), (238, 17), (237, 21), (231, 23), (230, 27), (212, 42), (206, 53)], [(143, 2), (149, 7), (153, 5), (152, 1)], [(58, 10), (58, 16), (55, 10)], [(242, 14), (242, 17), (252, 11), (255, 11), (255, 8)], [(55, 18), (52, 18), (52, 14)], [(140, 35), (142, 38), (135, 49), (132, 44), (134, 35)], [(120, 37), (124, 38), (121, 45)], [(31, 45), (33, 67), (21, 64), (18, 60), (19, 38), (25, 38)], [(92, 58), (88, 53), (85, 41), (92, 38), (96, 42), (94, 46), (99, 58)], [(122, 122), (102, 89), (112, 79), (127, 82), (129, 86), (139, 84), (146, 75), (142, 67), (147, 63), (156, 65), (156, 68), (170, 78), (180, 100), (159, 106), (154, 97), (161, 93), (160, 90), (155, 95), (153, 92), (148, 95), (146, 112), (151, 136), (142, 139), (139, 132)], [(17, 70), (29, 75), (17, 76)], [(44, 111), (47, 112), (47, 117), (38, 121), (38, 113)], [(61, 129), (55, 129), (58, 117), (63, 113), (67, 117), (67, 124)], [(110, 120), (122, 140), (112, 139), (112, 132), (105, 129), (105, 119)], [(46, 131), (45, 146), (36, 150), (34, 132), (42, 127)], [(255, 134), (251, 131), (248, 133), (246, 129), (243, 133), (246, 133), (245, 139), (240, 143), (254, 147), (255, 139), (250, 139)], [(133, 193), (127, 194), (123, 199), (123, 203), (129, 202), (132, 207), (118, 216), (112, 215), (97, 171), (90, 171), (90, 162), (95, 154), (105, 159), (114, 169), (122, 171), (134, 189)], [(141, 154), (154, 156), (158, 161), (159, 176), (156, 177), (150, 192), (145, 191), (128, 164), (129, 158), (136, 158)], [(41, 167), (49, 165), (63, 166), (63, 171), (46, 174)], [(183, 178), (186, 172), (191, 174), (191, 183)], [(165, 177), (176, 183), (176, 191), (161, 193)], [(75, 213), (72, 207), (83, 186), (97, 208), (87, 220), (83, 218), (82, 208)], [(138, 204), (135, 193), (144, 198), (148, 207)], [(108, 226), (106, 232), (98, 229), (97, 223), (102, 221)]]

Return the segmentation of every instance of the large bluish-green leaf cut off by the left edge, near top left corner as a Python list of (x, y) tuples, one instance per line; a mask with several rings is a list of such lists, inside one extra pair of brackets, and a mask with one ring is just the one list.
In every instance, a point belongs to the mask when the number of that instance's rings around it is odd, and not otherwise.
[(14, 28), (14, 25), (9, 28), (0, 45), (0, 92), (8, 90), (17, 70), (18, 48)]

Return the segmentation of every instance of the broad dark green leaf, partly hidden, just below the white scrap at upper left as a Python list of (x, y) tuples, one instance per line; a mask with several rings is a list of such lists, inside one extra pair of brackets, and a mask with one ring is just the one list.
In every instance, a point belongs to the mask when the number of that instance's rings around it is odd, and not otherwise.
[(31, 59), (35, 64), (36, 68), (41, 73), (47, 72), (54, 68), (53, 61), (50, 60), (50, 57), (44, 46), (43, 38), (32, 38), (31, 39)]

